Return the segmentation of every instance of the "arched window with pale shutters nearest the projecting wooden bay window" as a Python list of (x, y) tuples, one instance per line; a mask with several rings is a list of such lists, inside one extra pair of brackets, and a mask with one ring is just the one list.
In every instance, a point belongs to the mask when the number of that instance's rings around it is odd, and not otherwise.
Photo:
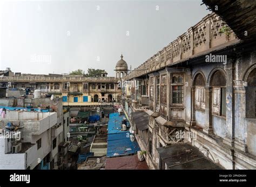
[(197, 74), (193, 85), (195, 86), (195, 109), (205, 110), (205, 79), (203, 75)]

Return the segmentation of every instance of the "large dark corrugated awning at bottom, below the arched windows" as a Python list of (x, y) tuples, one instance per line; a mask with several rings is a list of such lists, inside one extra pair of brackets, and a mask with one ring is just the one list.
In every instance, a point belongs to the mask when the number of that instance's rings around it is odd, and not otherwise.
[(207, 159), (198, 148), (190, 143), (174, 143), (159, 147), (161, 169), (222, 169), (217, 163)]

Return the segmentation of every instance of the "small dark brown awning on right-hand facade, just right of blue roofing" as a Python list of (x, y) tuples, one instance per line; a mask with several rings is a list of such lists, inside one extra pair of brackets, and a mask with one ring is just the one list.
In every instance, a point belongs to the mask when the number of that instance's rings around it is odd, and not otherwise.
[(149, 128), (149, 115), (144, 111), (132, 112), (132, 123), (136, 124), (140, 131), (147, 130)]

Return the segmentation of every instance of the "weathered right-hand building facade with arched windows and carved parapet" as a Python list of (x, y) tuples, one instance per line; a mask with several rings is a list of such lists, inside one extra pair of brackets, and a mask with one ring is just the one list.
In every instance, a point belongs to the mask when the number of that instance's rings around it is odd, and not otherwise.
[(222, 168), (256, 168), (255, 42), (239, 40), (218, 15), (204, 17), (125, 80), (127, 116), (149, 115), (147, 135), (137, 141), (145, 142), (139, 145), (150, 168), (164, 169), (158, 150), (181, 141)]

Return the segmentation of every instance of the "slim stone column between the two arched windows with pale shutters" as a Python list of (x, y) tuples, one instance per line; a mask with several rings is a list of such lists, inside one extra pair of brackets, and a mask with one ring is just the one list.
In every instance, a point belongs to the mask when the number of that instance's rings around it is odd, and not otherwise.
[(212, 133), (212, 87), (209, 84), (205, 85), (205, 125), (203, 131), (207, 134)]

